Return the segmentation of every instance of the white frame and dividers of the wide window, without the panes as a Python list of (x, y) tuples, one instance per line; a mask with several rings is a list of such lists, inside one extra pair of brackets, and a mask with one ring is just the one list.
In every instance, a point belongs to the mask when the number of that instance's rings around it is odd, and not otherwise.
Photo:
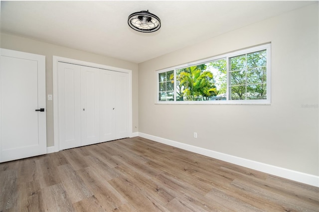
[[(229, 88), (230, 86), (230, 59), (232, 57), (240, 56), (243, 54), (250, 54), (258, 51), (266, 50), (266, 100), (229, 100), (230, 92)], [(226, 87), (226, 100), (222, 101), (176, 101), (176, 70), (182, 69), (182, 68), (187, 68), (191, 66), (196, 66), (196, 65), (201, 65), (205, 63), (210, 63), (213, 61), (218, 61), (226, 59), (226, 76), (227, 76), (227, 87)], [(173, 101), (160, 101), (159, 100), (159, 75), (160, 73), (168, 72), (168, 71), (173, 71), (174, 72), (174, 100)], [(156, 104), (159, 105), (271, 105), (271, 43), (267, 44), (262, 44), (242, 50), (237, 50), (233, 51), (230, 53), (222, 54), (219, 56), (214, 56), (210, 57), (207, 59), (203, 60), (198, 60), (195, 62), (187, 63), (187, 64), (182, 64), (170, 68), (165, 68), (156, 71)]]

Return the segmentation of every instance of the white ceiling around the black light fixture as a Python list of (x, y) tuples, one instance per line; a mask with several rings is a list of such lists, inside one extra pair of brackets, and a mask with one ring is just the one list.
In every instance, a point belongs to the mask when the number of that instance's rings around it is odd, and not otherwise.
[[(1, 32), (141, 63), (225, 32), (318, 1), (3, 1)], [(153, 33), (128, 16), (160, 17)]]

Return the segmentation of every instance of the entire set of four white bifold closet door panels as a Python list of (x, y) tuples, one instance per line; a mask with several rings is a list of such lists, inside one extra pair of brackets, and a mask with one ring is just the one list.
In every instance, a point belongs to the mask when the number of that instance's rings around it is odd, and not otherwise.
[(60, 149), (129, 136), (129, 74), (58, 63)]

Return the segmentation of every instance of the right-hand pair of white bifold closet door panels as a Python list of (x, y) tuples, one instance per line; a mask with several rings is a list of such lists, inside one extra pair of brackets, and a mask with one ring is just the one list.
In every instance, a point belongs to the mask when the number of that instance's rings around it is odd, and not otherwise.
[(100, 71), (101, 141), (129, 136), (129, 76), (127, 73)]

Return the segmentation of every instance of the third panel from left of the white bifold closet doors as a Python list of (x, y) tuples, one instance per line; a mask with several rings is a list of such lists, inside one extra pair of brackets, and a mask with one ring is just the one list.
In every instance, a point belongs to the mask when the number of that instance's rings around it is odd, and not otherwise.
[(116, 139), (115, 135), (115, 75), (113, 71), (100, 71), (101, 142)]

